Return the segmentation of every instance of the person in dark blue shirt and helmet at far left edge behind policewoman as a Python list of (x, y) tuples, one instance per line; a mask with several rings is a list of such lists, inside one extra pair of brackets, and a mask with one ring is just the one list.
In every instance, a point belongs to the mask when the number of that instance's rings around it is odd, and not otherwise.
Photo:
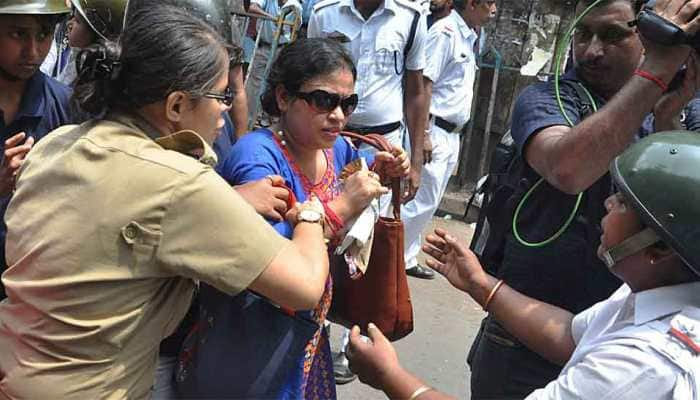
[[(64, 0), (0, 0), (0, 216), (34, 142), (71, 122), (70, 90), (39, 71), (56, 23), (69, 12)], [(6, 267), (5, 233), (0, 222), (0, 272)]]

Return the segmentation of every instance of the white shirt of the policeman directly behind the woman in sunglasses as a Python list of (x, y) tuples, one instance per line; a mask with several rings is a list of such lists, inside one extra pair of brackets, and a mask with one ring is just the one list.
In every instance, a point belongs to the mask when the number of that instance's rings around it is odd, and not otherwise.
[[(384, 0), (367, 21), (353, 0), (326, 0), (314, 7), (309, 37), (331, 37), (345, 42), (357, 68), (355, 92), (359, 103), (350, 125), (376, 126), (403, 119), (404, 51), (418, 8), (402, 0)], [(427, 28), (418, 20), (406, 69), (425, 67)]]

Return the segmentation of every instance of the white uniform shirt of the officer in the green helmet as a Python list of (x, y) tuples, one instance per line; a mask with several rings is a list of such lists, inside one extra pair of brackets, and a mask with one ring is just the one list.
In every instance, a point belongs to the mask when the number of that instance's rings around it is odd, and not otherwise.
[(700, 355), (671, 327), (700, 344), (700, 282), (639, 293), (623, 285), (574, 317), (571, 359), (527, 400), (700, 399)]

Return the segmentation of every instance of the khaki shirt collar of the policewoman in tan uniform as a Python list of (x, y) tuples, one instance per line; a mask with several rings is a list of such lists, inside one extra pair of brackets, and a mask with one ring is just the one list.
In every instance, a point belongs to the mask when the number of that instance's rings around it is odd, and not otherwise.
[(195, 131), (184, 130), (162, 136), (151, 123), (139, 115), (112, 112), (106, 119), (119, 122), (144, 133), (166, 150), (177, 151), (178, 153), (194, 157), (199, 162), (212, 168), (216, 167), (218, 163), (214, 149)]

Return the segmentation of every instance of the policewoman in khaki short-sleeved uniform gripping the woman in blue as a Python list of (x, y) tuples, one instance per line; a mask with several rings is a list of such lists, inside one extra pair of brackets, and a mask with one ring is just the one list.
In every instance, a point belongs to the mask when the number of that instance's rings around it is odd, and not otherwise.
[(19, 173), (0, 398), (147, 398), (197, 280), (293, 309), (323, 293), (322, 207), (292, 210), (286, 240), (210, 166), (232, 96), (220, 37), (176, 8), (127, 15), (119, 45), (78, 57), (74, 96), (103, 117), (52, 132)]

